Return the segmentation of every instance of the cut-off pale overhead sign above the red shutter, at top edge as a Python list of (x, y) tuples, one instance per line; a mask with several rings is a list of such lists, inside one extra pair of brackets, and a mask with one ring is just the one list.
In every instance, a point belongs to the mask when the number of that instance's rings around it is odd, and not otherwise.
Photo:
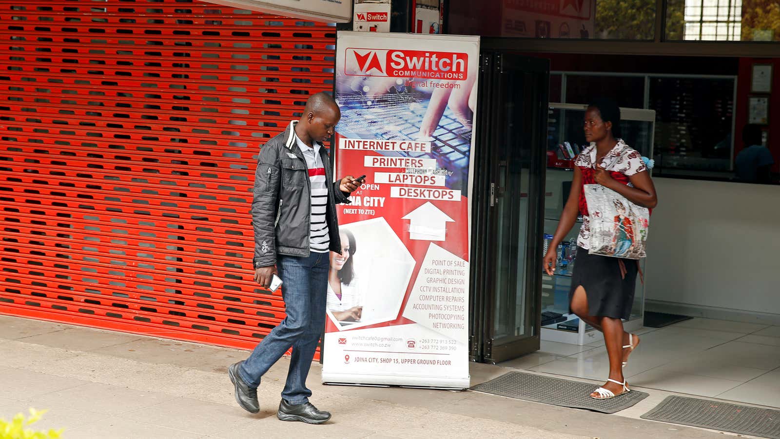
[(352, 20), (353, 0), (208, 0), (208, 2), (324, 23), (349, 23)]

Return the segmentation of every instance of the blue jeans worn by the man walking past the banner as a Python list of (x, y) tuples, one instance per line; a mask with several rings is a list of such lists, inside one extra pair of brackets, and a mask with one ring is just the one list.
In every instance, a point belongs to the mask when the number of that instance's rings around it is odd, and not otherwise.
[(282, 278), (287, 316), (257, 344), (239, 368), (246, 384), (259, 386), (264, 373), (292, 346), (282, 398), (290, 404), (309, 401), (311, 391), (306, 387), (306, 377), (324, 330), (330, 262), (329, 253), (311, 252), (306, 258), (278, 257), (276, 268)]

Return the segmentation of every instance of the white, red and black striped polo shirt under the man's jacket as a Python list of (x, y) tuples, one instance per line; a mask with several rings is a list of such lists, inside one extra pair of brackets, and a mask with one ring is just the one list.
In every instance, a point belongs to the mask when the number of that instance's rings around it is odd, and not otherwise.
[(325, 166), (320, 155), (322, 145), (314, 142), (314, 148), (295, 135), (295, 141), (306, 159), (306, 167), (309, 170), (311, 189), (311, 220), (309, 226), (309, 248), (312, 252), (329, 252), (330, 237), (328, 236), (328, 219), (325, 217), (325, 209), (328, 207), (328, 181), (325, 179)]

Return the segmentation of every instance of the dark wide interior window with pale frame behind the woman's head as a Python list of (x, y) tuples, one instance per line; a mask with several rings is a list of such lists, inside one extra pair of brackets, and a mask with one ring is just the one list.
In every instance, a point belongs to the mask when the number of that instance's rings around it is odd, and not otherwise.
[(624, 108), (655, 110), (655, 175), (732, 177), (736, 77), (576, 72), (551, 76), (561, 77), (555, 89), (566, 103), (587, 104), (604, 96)]

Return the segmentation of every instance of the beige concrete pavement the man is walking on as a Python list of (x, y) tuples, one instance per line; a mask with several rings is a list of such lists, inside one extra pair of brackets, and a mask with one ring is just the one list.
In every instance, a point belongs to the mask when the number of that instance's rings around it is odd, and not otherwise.
[[(264, 377), (261, 412), (252, 415), (234, 402), (227, 377), (227, 366), (246, 356), (236, 349), (0, 316), (0, 417), (48, 409), (36, 427), (65, 428), (65, 439), (723, 437), (635, 419), (665, 396), (657, 391), (640, 403), (646, 406), (633, 409), (636, 415), (615, 416), (473, 391), (324, 386), (317, 363), (308, 383), (312, 402), (333, 412), (332, 420), (320, 426), (285, 423), (275, 412), (288, 360)], [(472, 383), (508, 370), (472, 364)]]

